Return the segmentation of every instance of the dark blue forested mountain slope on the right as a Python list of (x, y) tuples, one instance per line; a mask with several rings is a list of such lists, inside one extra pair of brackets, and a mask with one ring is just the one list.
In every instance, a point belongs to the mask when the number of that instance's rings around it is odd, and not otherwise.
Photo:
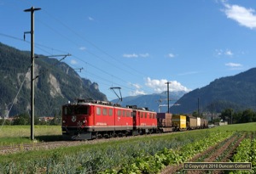
[(178, 107), (172, 106), (172, 113), (192, 113), (232, 108), (256, 109), (256, 68), (236, 76), (227, 76), (212, 81), (206, 87), (195, 89), (183, 95), (177, 101)]

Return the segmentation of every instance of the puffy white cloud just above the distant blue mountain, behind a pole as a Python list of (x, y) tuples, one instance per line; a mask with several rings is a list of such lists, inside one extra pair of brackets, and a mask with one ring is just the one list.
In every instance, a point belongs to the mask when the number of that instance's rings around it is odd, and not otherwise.
[[(154, 93), (162, 93), (167, 91), (167, 80), (166, 79), (161, 79), (161, 80), (156, 80), (156, 79), (150, 79), (149, 77), (146, 80), (146, 86), (153, 88)], [(170, 81), (169, 85), (169, 91), (170, 92), (177, 92), (177, 91), (186, 91), (189, 92), (190, 89), (187, 87), (183, 87), (183, 85), (180, 82), (177, 81)]]

